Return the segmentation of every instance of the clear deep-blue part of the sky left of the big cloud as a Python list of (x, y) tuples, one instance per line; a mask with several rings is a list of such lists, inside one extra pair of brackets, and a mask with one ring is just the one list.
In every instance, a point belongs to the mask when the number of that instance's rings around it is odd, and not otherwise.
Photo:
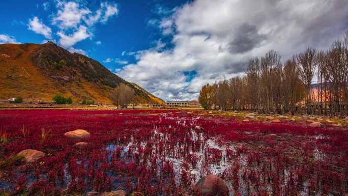
[[(83, 50), (89, 57), (101, 63), (108, 58), (112, 59), (112, 62), (104, 62), (103, 64), (107, 68), (115, 69), (121, 68), (126, 62), (135, 62), (134, 56), (127, 54), (155, 46), (157, 40), (162, 38), (162, 33), (158, 27), (149, 21), (160, 20), (161, 17), (170, 14), (172, 9), (185, 4), (187, 1), (73, 2), (78, 4), (79, 9), (89, 9), (92, 16), (101, 8), (102, 3), (107, 3), (117, 9), (117, 13), (109, 16), (105, 22), (99, 21), (90, 27), (88, 26), (89, 33), (93, 35), (72, 46), (75, 49)], [(2, 13), (0, 22), (3, 24), (0, 34), (14, 37), (20, 43), (43, 43), (47, 40), (53, 40), (59, 44), (60, 37), (56, 33), (61, 31), (60, 27), (57, 24), (52, 24), (57, 11), (62, 10), (57, 8), (59, 1), (3, 1), (0, 4), (0, 12)], [(37, 17), (41, 23), (51, 29), (51, 38), (28, 29), (28, 23), (34, 17)], [(81, 23), (83, 24), (83, 22)], [(68, 29), (65, 32), (72, 33), (73, 31)], [(168, 38), (164, 37), (161, 40), (165, 41)]]

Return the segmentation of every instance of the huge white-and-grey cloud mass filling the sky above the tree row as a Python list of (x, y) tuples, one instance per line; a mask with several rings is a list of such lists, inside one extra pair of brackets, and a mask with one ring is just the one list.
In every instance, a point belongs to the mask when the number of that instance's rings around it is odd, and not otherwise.
[(138, 51), (137, 63), (117, 74), (163, 99), (196, 99), (202, 85), (242, 75), (268, 50), (286, 60), (329, 47), (348, 27), (347, 9), (345, 0), (196, 0), (158, 24), (172, 48)]

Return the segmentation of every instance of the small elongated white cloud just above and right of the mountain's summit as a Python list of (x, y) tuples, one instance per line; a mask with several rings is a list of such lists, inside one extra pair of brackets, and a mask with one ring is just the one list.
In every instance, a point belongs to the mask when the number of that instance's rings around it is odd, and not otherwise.
[(81, 25), (79, 29), (72, 35), (65, 35), (64, 32), (58, 32), (57, 35), (61, 37), (59, 43), (66, 48), (71, 47), (75, 43), (92, 36), (91, 33), (87, 32), (87, 27), (83, 25)]

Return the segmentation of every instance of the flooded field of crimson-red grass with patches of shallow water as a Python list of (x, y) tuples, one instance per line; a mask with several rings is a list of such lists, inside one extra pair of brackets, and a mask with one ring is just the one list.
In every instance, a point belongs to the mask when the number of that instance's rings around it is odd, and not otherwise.
[[(347, 130), (308, 124), (183, 110), (0, 110), (0, 195), (190, 195), (210, 173), (229, 195), (346, 195)], [(75, 129), (91, 136), (64, 136)], [(16, 156), (24, 149), (45, 156), (26, 163)]]

